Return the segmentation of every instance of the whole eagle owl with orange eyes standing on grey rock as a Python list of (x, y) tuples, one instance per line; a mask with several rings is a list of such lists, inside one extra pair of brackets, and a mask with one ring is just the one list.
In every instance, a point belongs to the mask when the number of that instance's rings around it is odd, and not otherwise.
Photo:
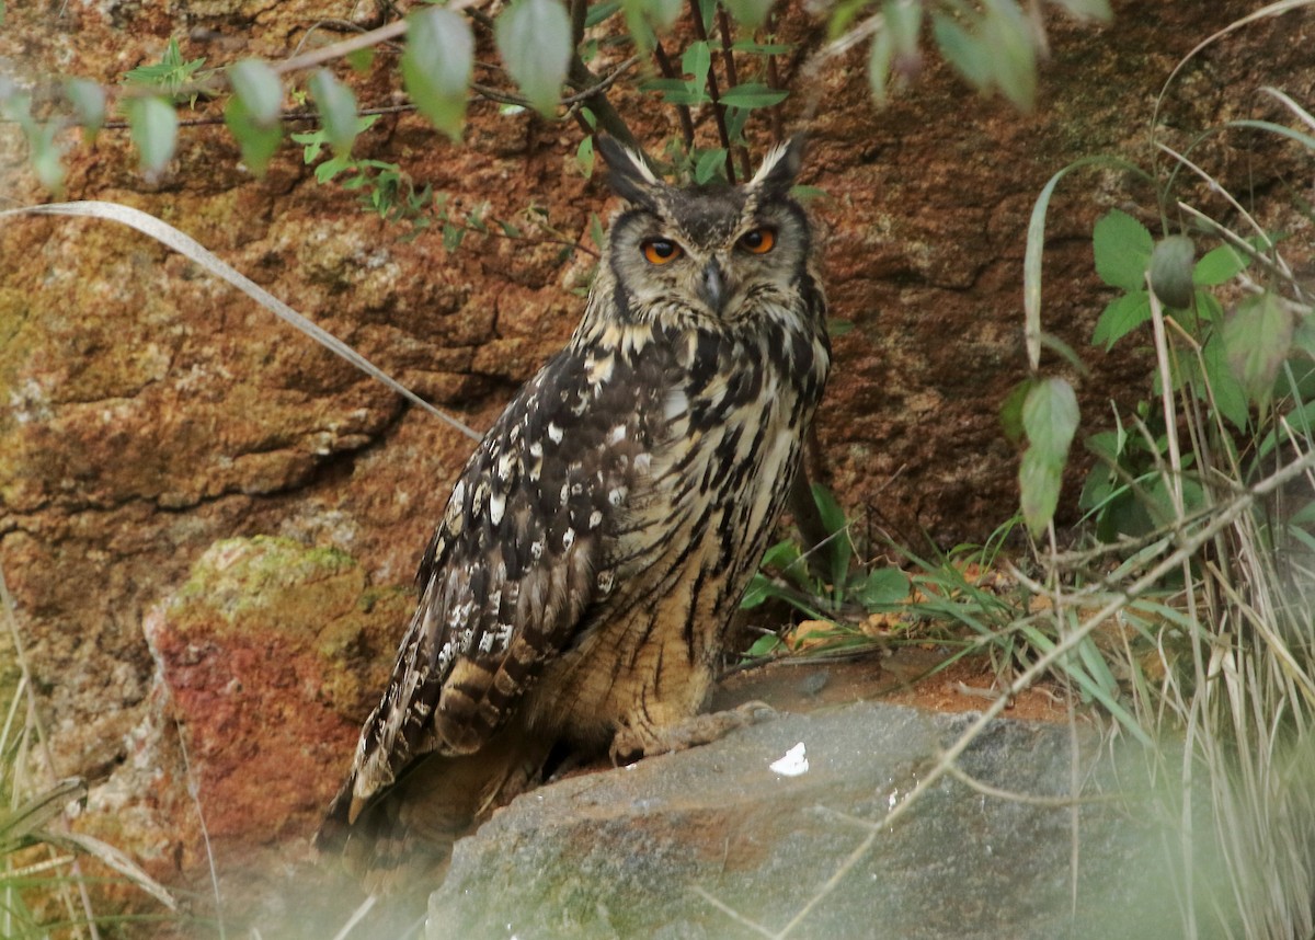
[(597, 153), (623, 206), (584, 317), (454, 485), (317, 835), (376, 876), (442, 870), (564, 752), (633, 760), (761, 714), (702, 711), (830, 368), (803, 141), (742, 187)]

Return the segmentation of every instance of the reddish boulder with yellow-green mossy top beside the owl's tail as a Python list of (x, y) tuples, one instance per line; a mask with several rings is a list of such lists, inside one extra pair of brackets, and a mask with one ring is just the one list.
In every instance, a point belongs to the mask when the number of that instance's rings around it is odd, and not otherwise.
[[(212, 872), (227, 899), (213, 914), (231, 927), (293, 936), (288, 908), (305, 918), (300, 906), (317, 890), (323, 898), (306, 905), (326, 916), (317, 926), (345, 918), (359, 897), (333, 883), (335, 866), (317, 864), (308, 834), (347, 769), (359, 715), (387, 681), (392, 632), (410, 603), (406, 592), (367, 589), (360, 565), (333, 548), (266, 536), (214, 543), (146, 614), (153, 720), (132, 769), (97, 787), (92, 809), (118, 820), (120, 841), (171, 860), (174, 880)], [(178, 780), (139, 778), (179, 761)], [(134, 784), (155, 799), (121, 815), (107, 794)], [(208, 902), (192, 910), (210, 912)]]

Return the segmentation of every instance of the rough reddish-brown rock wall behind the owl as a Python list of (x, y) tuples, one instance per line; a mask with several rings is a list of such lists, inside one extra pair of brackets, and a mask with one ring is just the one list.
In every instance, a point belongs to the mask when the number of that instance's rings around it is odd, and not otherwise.
[[(373, 8), (362, 7), (363, 21)], [(1082, 156), (1112, 151), (1149, 163), (1144, 129), (1165, 76), (1199, 39), (1253, 8), (1173, 0), (1118, 5), (1105, 29), (1057, 24), (1034, 116), (976, 97), (935, 58), (874, 110), (864, 49), (817, 72), (786, 104), (786, 124), (806, 122), (813, 135), (805, 180), (827, 193), (814, 212), (826, 230), (834, 316), (853, 325), (835, 342), (813, 471), (855, 513), (869, 514), (873, 529), (910, 542), (923, 531), (942, 543), (980, 540), (1010, 514), (1015, 452), (998, 431), (997, 409), (1024, 371), (1020, 264), (1032, 201), (1056, 170)], [(37, 84), (72, 70), (113, 85), (129, 68), (158, 62), (170, 37), (184, 59), (205, 57), (217, 67), (323, 41), (326, 16), (309, 0), (62, 4), (58, 14), (11, 3), (0, 68)], [(1308, 103), (1312, 22), (1307, 11), (1260, 21), (1194, 59), (1162, 103), (1162, 139), (1185, 147), (1232, 117), (1286, 120), (1257, 96), (1264, 84)], [(781, 9), (780, 25), (800, 50), (781, 63), (790, 83), (825, 35), (798, 3)], [(352, 79), (362, 105), (392, 104), (394, 64), (380, 54)], [(826, 106), (806, 118), (814, 95)], [(652, 99), (619, 96), (617, 104), (652, 145), (676, 133), (675, 113)], [(218, 120), (218, 109), (203, 101), (197, 117)], [(765, 128), (750, 131), (765, 141)], [(710, 122), (700, 133), (710, 134)], [(573, 130), (502, 116), (490, 103), (472, 106), (462, 147), (416, 114), (387, 114), (358, 143), (359, 156), (396, 163), (451, 205), (488, 200), (492, 216), (531, 234), (472, 234), (455, 252), (437, 226), (408, 241), (405, 226), (362, 212), (352, 192), (318, 185), (292, 145), (255, 180), (222, 128), (197, 124), (184, 128), (175, 162), (147, 181), (126, 129), (107, 129), (91, 147), (75, 146), (70, 133), (68, 143), (68, 199), (117, 200), (178, 225), (475, 427), (492, 422), (573, 327), (581, 304), (573, 291), (593, 259), (564, 251), (560, 239), (588, 247), (590, 213), (605, 214), (601, 184), (575, 170)], [(1232, 133), (1193, 153), (1223, 185), (1247, 193), (1265, 225), (1286, 231), (1287, 245), (1310, 241), (1310, 222), (1285, 209), (1301, 201), (1289, 197), (1287, 180), (1307, 179), (1290, 151)], [(0, 124), (5, 205), (47, 199), (26, 162), (16, 125)], [(1156, 202), (1111, 171), (1072, 179), (1052, 205), (1044, 316), (1048, 329), (1086, 350), (1106, 301), (1091, 270), (1091, 223), (1110, 205)], [(1199, 197), (1227, 218), (1222, 201), (1186, 185), (1180, 179), (1170, 195)], [(1136, 397), (1147, 388), (1136, 355), (1089, 358), (1085, 414), (1106, 413), (1111, 390)], [(224, 839), (231, 835), (235, 856), (242, 844), (304, 840), (314, 798), (347, 760), (325, 741), (350, 735), (326, 732), (325, 722), (342, 715), (347, 728), (364, 718), (363, 690), (377, 688), (373, 676), (388, 668), (404, 626), (404, 601), (392, 609), (371, 598), (405, 590), (469, 447), (145, 237), (108, 223), (7, 218), (0, 564), (50, 728), (51, 766), (41, 772), (92, 785), (78, 824), (170, 883), (208, 885), (176, 707), (184, 734), (205, 732), (193, 741), (203, 751), (221, 718), (237, 722), (238, 734), (214, 738), (231, 751), (205, 752), (201, 768), (201, 791), (227, 801), (204, 807), (206, 818), (231, 827)], [(1074, 492), (1066, 490), (1069, 518)], [(312, 597), (327, 584), (345, 592), (330, 605), (334, 617), (316, 622), (318, 609), (274, 584), (283, 599), (270, 601), (262, 622), (300, 626), (254, 640), (233, 634), (216, 607), (231, 586), (213, 601), (178, 596), (189, 578), (224, 584), (214, 565), (233, 547), (206, 556), (213, 546), (258, 536), (291, 539), (312, 556), (350, 555), (331, 578), (316, 563), (289, 569), (293, 582), (308, 578), (301, 586)], [(241, 552), (267, 550), (249, 543)], [(264, 584), (243, 581), (239, 590)], [(358, 599), (348, 602), (352, 590)], [(153, 656), (143, 624), (171, 597), (181, 606), (166, 610), (181, 619), (151, 621)], [(272, 613), (283, 603), (289, 611)], [(206, 605), (203, 623), (193, 614)], [(355, 636), (370, 639), (356, 644)], [(224, 660), (230, 643), (233, 663)], [(267, 668), (262, 657), (274, 648), (264, 643), (287, 644), (279, 655), (292, 656), (291, 673)], [(213, 652), (188, 661), (206, 644)], [(0, 663), (0, 685), (12, 681), (7, 667)], [(313, 685), (321, 668), (330, 672), (308, 693), (300, 682)], [(234, 678), (245, 698), (234, 698)], [(242, 724), (254, 719), (225, 711), (235, 701), (283, 715), (279, 730)], [(218, 711), (209, 715), (210, 707)], [(306, 714), (316, 719), (302, 720)], [(256, 766), (284, 766), (254, 747), (275, 743), (292, 755), (287, 766), (299, 768), (283, 785), (308, 782), (279, 803), (289, 815), (271, 834), (268, 818), (234, 809), (252, 794), (231, 787), (259, 781)], [(221, 766), (229, 769), (221, 774)]]

